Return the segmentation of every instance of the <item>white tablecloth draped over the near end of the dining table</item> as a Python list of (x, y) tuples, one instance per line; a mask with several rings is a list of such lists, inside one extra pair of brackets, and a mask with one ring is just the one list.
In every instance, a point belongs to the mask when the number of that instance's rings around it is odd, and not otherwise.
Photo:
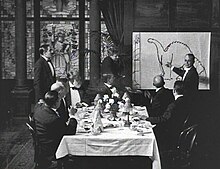
[[(137, 111), (147, 114), (146, 108)], [(56, 151), (56, 158), (75, 156), (148, 156), (153, 169), (161, 169), (160, 155), (152, 129), (138, 135), (128, 127), (106, 128), (99, 135), (76, 133), (64, 136)]]

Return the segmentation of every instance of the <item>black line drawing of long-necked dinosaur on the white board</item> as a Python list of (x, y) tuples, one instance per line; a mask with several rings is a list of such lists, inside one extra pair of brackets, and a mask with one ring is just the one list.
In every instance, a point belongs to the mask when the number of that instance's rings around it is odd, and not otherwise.
[[(160, 41), (158, 41), (157, 39), (154, 39), (154, 38), (148, 38), (147, 40), (148, 43), (152, 43), (155, 48), (156, 48), (156, 55), (157, 55), (157, 60), (158, 60), (158, 63), (159, 63), (159, 68), (161, 70), (161, 75), (164, 77), (165, 80), (172, 80), (172, 71), (171, 71), (171, 68), (166, 68), (164, 67), (165, 65), (165, 60), (167, 62), (170, 62), (171, 64), (174, 62), (174, 53), (168, 53), (168, 50), (170, 49), (171, 46), (173, 46), (174, 44), (178, 44), (178, 45), (181, 45), (181, 48), (185, 48), (185, 54), (187, 53), (192, 53), (192, 50), (190, 49), (190, 47), (181, 42), (181, 41), (172, 41), (171, 43), (169, 43), (165, 48), (164, 46), (162, 45), (162, 43)], [(165, 54), (168, 53), (168, 57), (165, 56)], [(184, 55), (185, 56), (185, 55)], [(175, 56), (176, 57), (176, 56)], [(205, 67), (203, 66), (203, 64), (201, 63), (201, 61), (195, 57), (195, 64), (196, 64), (196, 68), (197, 68), (197, 71), (199, 73), (199, 75), (202, 75), (207, 77), (207, 74), (206, 74), (206, 69)], [(184, 65), (181, 65), (180, 68), (183, 68)], [(169, 73), (165, 70), (165, 69), (169, 69)], [(199, 70), (198, 70), (199, 69)], [(178, 79), (179, 77), (177, 77)]]

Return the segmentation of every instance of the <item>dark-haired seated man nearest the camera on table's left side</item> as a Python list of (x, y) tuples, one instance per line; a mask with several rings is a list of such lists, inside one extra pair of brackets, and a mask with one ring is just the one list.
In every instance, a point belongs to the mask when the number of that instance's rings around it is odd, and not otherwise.
[(77, 126), (67, 126), (56, 111), (60, 106), (58, 92), (47, 92), (44, 102), (36, 106), (33, 118), (39, 141), (39, 168), (45, 169), (55, 161), (56, 149), (63, 135), (71, 134), (69, 131), (74, 134)]

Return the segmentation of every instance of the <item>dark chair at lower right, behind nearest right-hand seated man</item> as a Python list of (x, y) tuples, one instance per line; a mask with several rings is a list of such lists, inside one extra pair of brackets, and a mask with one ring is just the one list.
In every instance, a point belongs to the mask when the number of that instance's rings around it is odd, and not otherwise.
[(179, 135), (177, 147), (174, 150), (161, 153), (162, 168), (190, 168), (192, 152), (197, 145), (197, 128), (198, 125), (195, 124), (184, 129)]

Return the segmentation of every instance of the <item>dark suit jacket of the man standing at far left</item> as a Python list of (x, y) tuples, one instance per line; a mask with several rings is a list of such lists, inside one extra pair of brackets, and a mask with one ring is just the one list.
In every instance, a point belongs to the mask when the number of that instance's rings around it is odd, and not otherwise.
[[(54, 71), (55, 72), (55, 71)], [(43, 99), (46, 92), (56, 81), (56, 75), (52, 76), (52, 72), (47, 61), (40, 57), (34, 66), (34, 89), (35, 101)]]

